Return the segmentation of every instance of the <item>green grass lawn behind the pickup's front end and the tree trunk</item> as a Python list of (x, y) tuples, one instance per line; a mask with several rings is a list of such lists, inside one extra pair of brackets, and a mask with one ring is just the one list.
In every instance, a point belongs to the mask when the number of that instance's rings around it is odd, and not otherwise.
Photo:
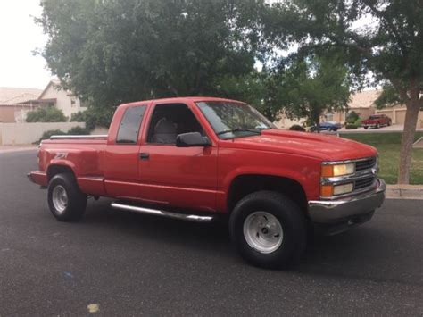
[[(395, 184), (398, 179), (398, 164), (400, 160), (400, 132), (392, 133), (348, 133), (342, 138), (351, 138), (361, 143), (375, 146), (379, 152), (379, 176), (388, 184)], [(416, 139), (423, 133), (416, 133)], [(423, 149), (413, 149), (411, 163), (411, 184), (423, 184)]]

